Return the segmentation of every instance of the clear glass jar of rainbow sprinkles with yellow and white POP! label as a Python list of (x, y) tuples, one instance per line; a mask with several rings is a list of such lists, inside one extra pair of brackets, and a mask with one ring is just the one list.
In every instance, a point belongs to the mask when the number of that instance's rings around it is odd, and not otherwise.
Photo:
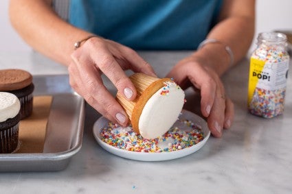
[(284, 112), (289, 55), (287, 36), (278, 32), (258, 34), (249, 66), (248, 109), (251, 114), (273, 118)]

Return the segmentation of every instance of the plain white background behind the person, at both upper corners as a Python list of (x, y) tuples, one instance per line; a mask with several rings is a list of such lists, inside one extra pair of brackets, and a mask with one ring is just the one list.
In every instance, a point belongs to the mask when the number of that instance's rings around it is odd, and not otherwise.
[[(8, 5), (8, 0), (0, 1), (0, 51), (29, 51), (30, 47), (10, 25)], [(256, 2), (256, 34), (274, 29), (290, 29), (292, 31), (291, 8), (291, 0), (258, 0)]]

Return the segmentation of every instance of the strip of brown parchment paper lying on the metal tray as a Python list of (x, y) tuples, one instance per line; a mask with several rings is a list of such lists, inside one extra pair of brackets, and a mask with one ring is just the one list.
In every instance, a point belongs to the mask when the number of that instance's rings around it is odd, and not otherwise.
[(34, 97), (32, 115), (20, 121), (20, 145), (16, 153), (43, 153), (52, 99), (52, 96)]

